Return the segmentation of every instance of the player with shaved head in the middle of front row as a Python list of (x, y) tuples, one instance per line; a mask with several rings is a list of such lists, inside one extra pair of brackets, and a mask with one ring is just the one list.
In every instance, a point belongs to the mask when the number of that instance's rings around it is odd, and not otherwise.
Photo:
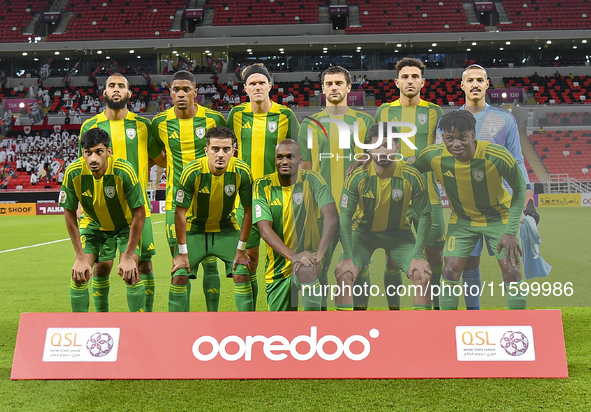
[(318, 277), (338, 225), (326, 182), (317, 172), (298, 170), (301, 161), (299, 145), (282, 140), (275, 149), (277, 171), (253, 188), (254, 222), (267, 243), (265, 290), (272, 311), (296, 309), (299, 289), (304, 310), (321, 309)]

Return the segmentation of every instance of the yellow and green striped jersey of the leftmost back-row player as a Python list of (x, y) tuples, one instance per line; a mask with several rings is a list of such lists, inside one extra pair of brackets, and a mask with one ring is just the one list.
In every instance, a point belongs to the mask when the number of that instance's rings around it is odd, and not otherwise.
[[(148, 188), (148, 157), (155, 159), (161, 153), (155, 144), (152, 124), (145, 117), (127, 112), (125, 119), (109, 120), (105, 112), (86, 120), (80, 129), (80, 137), (90, 129), (98, 127), (111, 136), (113, 156), (127, 160), (133, 166), (144, 191)], [(78, 144), (78, 156), (82, 156), (82, 147)], [(145, 196), (145, 194), (144, 194)], [(150, 217), (148, 198), (144, 198), (146, 217)]]

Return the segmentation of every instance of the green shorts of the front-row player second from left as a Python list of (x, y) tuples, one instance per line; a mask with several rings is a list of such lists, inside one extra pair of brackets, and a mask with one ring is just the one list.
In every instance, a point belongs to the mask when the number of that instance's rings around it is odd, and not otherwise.
[[(236, 271), (232, 271), (239, 240), (240, 232), (237, 230), (222, 230), (221, 232), (212, 233), (187, 232), (187, 249), (189, 251), (189, 265), (191, 266), (189, 278), (197, 279), (199, 264), (209, 256), (216, 256), (224, 262), (227, 277), (248, 275), (248, 269), (244, 265), (238, 265)], [(175, 255), (177, 253), (178, 246)]]

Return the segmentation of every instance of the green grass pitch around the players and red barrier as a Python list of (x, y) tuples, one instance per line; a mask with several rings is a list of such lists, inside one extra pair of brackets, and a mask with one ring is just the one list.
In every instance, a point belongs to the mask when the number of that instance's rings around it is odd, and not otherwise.
[[(542, 253), (554, 267), (545, 280), (572, 282), (574, 294), (534, 303), (562, 309), (569, 379), (10, 381), (20, 314), (70, 311), (74, 253), (66, 240), (0, 253), (0, 411), (591, 410), (591, 208), (539, 212)], [(164, 218), (155, 215), (152, 220), (158, 249), (155, 310), (165, 311), (171, 262)], [(63, 216), (0, 218), (0, 251), (65, 238)], [(266, 310), (262, 266), (258, 310)], [(382, 252), (374, 256), (372, 268), (377, 274), (382, 270)], [(500, 282), (492, 258), (483, 258), (482, 273), (484, 281)], [(221, 310), (235, 308), (232, 287), (231, 280), (222, 281)], [(503, 307), (505, 302), (496, 296), (485, 305)], [(116, 275), (111, 310), (126, 311), (124, 288)], [(199, 283), (194, 283), (192, 310), (205, 310)]]

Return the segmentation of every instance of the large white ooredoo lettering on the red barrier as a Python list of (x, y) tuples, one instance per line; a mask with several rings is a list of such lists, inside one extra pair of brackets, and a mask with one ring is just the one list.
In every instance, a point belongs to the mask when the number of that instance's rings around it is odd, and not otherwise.
[[(369, 337), (376, 339), (380, 336), (380, 331), (377, 329), (371, 329), (369, 331)], [(255, 335), (246, 336), (241, 338), (240, 336), (230, 335), (223, 338), (218, 342), (213, 336), (201, 336), (193, 343), (193, 356), (200, 361), (210, 361), (216, 356), (221, 356), (227, 361), (236, 361), (244, 358), (245, 361), (252, 359), (253, 345), (257, 342), (262, 343), (263, 354), (267, 359), (272, 361), (281, 361), (291, 355), (295, 360), (307, 361), (312, 359), (314, 355), (318, 356), (326, 361), (333, 361), (339, 359), (343, 354), (354, 361), (360, 361), (369, 356), (371, 352), (371, 344), (369, 339), (363, 335), (351, 335), (344, 340), (335, 335), (324, 335), (318, 338), (318, 328), (316, 326), (310, 327), (310, 335), (299, 335), (291, 340), (291, 342), (282, 335), (273, 335), (270, 337)], [(325, 348), (327, 343), (331, 349)], [(238, 349), (234, 353), (228, 353), (228, 345), (233, 343), (232, 347)], [(354, 343), (357, 343), (353, 345)], [(207, 346), (211, 345), (211, 350), (207, 352)], [(304, 344), (304, 345), (300, 345)], [(300, 348), (298, 350), (298, 345)], [(308, 351), (304, 352), (302, 349), (308, 346)], [(352, 348), (352, 346), (354, 346)], [(361, 351), (359, 349), (363, 347)], [(205, 353), (203, 353), (205, 351)], [(232, 351), (233, 352), (233, 351)]]

